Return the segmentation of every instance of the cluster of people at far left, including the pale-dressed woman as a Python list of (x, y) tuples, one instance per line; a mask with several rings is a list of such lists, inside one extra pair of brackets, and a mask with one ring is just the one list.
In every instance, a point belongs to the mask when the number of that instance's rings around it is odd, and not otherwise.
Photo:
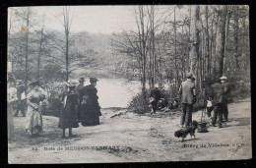
[[(42, 132), (41, 106), (46, 98), (46, 92), (41, 87), (41, 79), (32, 81), (26, 96), (26, 88), (23, 81), (18, 80), (14, 85), (8, 83), (8, 135), (14, 137), (13, 116), (18, 117), (21, 111), (22, 117), (26, 117), (26, 131), (32, 136), (38, 136)], [(14, 106), (16, 112), (13, 114)]]

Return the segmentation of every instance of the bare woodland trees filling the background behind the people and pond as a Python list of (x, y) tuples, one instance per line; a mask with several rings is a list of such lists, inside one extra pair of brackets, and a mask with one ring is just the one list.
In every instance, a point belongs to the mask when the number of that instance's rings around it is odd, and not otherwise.
[(148, 84), (169, 84), (174, 94), (187, 72), (200, 89), (206, 77), (223, 75), (249, 89), (247, 6), (137, 6), (131, 11), (136, 27), (112, 34), (73, 32), (71, 10), (55, 16), (63, 26), (56, 31), (32, 8), (9, 8), (9, 81), (27, 86), (42, 77), (50, 85), (81, 74), (139, 80), (145, 107)]

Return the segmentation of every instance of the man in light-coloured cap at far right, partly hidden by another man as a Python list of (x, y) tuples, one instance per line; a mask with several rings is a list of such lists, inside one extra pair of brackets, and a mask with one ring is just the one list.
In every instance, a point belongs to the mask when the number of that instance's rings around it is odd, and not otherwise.
[(227, 99), (228, 99), (228, 96), (229, 96), (229, 92), (230, 92), (230, 87), (229, 87), (229, 84), (226, 83), (227, 81), (227, 78), (226, 77), (222, 77), (220, 78), (221, 80), (221, 83), (223, 84), (224, 86), (224, 100), (223, 100), (223, 105), (222, 105), (222, 110), (223, 110), (223, 114), (224, 114), (224, 121), (228, 121), (228, 108), (227, 108)]

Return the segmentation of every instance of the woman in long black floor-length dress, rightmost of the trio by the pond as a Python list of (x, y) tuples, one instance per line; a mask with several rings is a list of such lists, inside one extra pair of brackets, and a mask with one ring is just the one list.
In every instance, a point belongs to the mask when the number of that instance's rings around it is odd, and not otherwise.
[(101, 116), (101, 112), (97, 101), (96, 82), (96, 78), (90, 78), (91, 84), (85, 86), (83, 90), (83, 98), (85, 99), (83, 113), (81, 114), (83, 126), (96, 126), (99, 124), (99, 116)]

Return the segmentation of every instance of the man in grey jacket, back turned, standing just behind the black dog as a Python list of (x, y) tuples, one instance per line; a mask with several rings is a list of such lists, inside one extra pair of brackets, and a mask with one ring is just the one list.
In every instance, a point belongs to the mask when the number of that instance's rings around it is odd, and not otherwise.
[(192, 123), (193, 99), (196, 96), (196, 87), (192, 83), (192, 73), (186, 75), (187, 80), (182, 82), (178, 94), (181, 96), (182, 115), (180, 118), (180, 127), (189, 126)]

